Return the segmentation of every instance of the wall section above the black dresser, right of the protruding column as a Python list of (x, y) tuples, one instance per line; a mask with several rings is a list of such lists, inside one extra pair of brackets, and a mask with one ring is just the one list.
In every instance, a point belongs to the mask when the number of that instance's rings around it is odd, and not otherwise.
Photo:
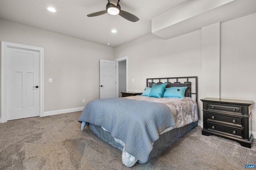
[(253, 100), (256, 131), (256, 13), (224, 22), (220, 28), (220, 96)]

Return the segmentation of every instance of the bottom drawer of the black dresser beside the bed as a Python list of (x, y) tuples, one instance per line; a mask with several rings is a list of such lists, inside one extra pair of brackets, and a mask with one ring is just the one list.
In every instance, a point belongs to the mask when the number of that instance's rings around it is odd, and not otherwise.
[(235, 127), (230, 127), (225, 125), (219, 125), (219, 124), (210, 123), (210, 122), (207, 122), (207, 127), (208, 127), (208, 130), (223, 132), (229, 135), (235, 135), (236, 137), (243, 138), (243, 129), (238, 129)]

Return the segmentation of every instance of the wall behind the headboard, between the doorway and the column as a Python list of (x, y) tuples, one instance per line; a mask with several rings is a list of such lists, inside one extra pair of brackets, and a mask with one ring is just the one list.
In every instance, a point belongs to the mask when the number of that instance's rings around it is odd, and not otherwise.
[(130, 92), (143, 92), (146, 78), (198, 76), (200, 97), (201, 30), (168, 40), (154, 34), (146, 35), (116, 47), (114, 53), (115, 58), (129, 57)]

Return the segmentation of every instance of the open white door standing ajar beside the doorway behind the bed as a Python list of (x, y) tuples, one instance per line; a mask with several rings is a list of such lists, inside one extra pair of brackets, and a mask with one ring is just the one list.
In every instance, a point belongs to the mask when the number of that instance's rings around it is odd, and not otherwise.
[(116, 61), (100, 60), (100, 98), (116, 97)]

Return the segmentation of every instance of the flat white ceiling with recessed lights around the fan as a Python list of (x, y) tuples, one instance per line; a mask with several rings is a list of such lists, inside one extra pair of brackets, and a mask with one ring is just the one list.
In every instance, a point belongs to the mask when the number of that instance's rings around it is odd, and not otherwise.
[[(120, 0), (121, 9), (140, 18), (86, 15), (106, 9), (107, 0), (0, 0), (0, 18), (117, 47), (151, 33), (151, 19), (187, 0)], [(55, 13), (47, 7), (54, 7)], [(117, 33), (111, 30), (116, 29)]]

